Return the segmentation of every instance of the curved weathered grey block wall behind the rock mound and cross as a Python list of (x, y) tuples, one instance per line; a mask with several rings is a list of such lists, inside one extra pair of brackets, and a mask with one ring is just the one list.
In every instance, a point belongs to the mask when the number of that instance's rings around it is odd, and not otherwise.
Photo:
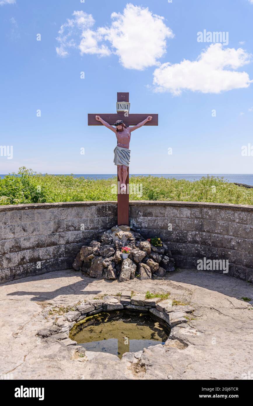
[[(178, 267), (227, 260), (228, 272), (214, 272), (253, 282), (253, 206), (132, 201), (130, 219), (145, 238), (160, 236)], [(0, 281), (71, 268), (81, 246), (116, 222), (116, 202), (0, 206)]]

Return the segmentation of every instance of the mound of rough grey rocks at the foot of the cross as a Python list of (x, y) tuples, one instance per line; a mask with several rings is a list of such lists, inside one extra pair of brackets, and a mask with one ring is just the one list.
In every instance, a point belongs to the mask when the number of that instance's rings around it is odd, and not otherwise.
[[(131, 248), (127, 259), (122, 259), (124, 246)], [(120, 226), (96, 235), (89, 246), (83, 246), (73, 268), (87, 272), (92, 278), (129, 281), (135, 275), (142, 280), (165, 276), (175, 270), (175, 261), (165, 244), (152, 246), (129, 226)]]

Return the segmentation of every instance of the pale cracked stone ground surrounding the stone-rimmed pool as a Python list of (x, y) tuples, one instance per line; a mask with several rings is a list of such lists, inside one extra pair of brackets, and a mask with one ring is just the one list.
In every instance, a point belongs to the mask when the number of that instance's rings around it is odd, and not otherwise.
[[(176, 327), (181, 342), (145, 349), (140, 360), (129, 354), (120, 361), (99, 352), (79, 358), (74, 346), (36, 337), (52, 325), (54, 316), (45, 314), (53, 307), (123, 290), (170, 292), (172, 298), (190, 300), (195, 320)], [(0, 374), (12, 373), (13, 379), (240, 380), (248, 371), (253, 374), (253, 307), (242, 297), (253, 298), (252, 284), (194, 270), (121, 283), (65, 270), (5, 283), (0, 285)]]

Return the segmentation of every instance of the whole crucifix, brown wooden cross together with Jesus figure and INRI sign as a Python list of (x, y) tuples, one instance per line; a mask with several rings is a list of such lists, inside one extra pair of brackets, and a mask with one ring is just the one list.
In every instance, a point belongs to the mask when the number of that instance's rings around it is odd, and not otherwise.
[(118, 141), (114, 149), (114, 164), (118, 167), (118, 226), (129, 225), (131, 133), (143, 125), (158, 125), (158, 114), (129, 114), (129, 109), (129, 93), (117, 93), (116, 114), (88, 114), (88, 125), (105, 125)]

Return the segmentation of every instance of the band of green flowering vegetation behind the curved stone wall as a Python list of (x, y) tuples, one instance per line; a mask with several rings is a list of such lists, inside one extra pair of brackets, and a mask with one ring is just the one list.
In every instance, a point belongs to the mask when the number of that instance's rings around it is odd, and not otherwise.
[[(18, 173), (0, 179), (0, 205), (19, 203), (54, 203), (69, 201), (117, 200), (111, 179), (84, 179), (73, 175), (42, 175), (32, 169), (19, 168)], [(131, 186), (132, 185), (132, 186)], [(141, 193), (131, 193), (142, 185)], [(139, 191), (141, 188), (139, 188)], [(213, 176), (190, 182), (154, 176), (132, 176), (131, 200), (197, 201), (253, 205), (253, 188), (247, 189)]]

